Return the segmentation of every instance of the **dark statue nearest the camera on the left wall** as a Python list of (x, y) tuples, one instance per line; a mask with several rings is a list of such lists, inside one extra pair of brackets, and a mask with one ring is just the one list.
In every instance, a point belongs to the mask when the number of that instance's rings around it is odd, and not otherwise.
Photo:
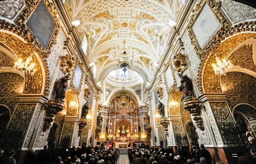
[(63, 76), (59, 79), (57, 86), (56, 86), (56, 96), (55, 100), (64, 102), (63, 99), (65, 98), (66, 90), (65, 88), (68, 87), (68, 80), (70, 80), (70, 73), (68, 75)]

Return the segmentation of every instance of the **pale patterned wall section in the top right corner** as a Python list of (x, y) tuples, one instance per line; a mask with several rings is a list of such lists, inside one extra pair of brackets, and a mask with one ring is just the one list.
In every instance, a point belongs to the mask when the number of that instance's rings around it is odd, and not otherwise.
[(228, 15), (232, 23), (238, 23), (256, 18), (256, 9), (245, 4), (233, 1), (222, 0), (222, 9)]

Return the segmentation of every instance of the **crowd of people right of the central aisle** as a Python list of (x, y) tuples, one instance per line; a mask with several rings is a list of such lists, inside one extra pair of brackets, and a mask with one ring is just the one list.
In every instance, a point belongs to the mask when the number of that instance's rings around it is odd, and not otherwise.
[[(255, 153), (256, 149), (251, 149)], [(161, 148), (151, 146), (146, 148), (130, 148), (128, 150), (130, 164), (212, 164), (212, 155), (205, 149), (203, 144), (190, 146), (187, 152), (183, 146), (178, 147), (174, 154), (169, 146)], [(255, 153), (256, 157), (256, 153)], [(223, 164), (216, 162), (216, 164)], [(238, 164), (256, 164), (256, 159), (252, 155), (242, 155), (238, 158)]]

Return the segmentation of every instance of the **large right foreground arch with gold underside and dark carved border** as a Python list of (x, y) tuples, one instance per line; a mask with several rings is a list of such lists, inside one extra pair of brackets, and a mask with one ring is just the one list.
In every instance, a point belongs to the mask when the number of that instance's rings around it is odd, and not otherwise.
[(199, 54), (200, 66), (198, 69), (197, 88), (200, 94), (222, 93), (219, 75), (215, 75), (212, 63), (216, 63), (215, 55), (220, 59), (226, 59), (228, 55), (246, 40), (256, 36), (255, 22), (244, 22), (231, 27), (224, 33), (218, 33), (213, 37), (209, 49)]

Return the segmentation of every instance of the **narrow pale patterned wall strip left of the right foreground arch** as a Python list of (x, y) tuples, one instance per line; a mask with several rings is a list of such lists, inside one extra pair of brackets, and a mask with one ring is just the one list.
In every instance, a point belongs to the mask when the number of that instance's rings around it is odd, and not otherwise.
[(190, 65), (192, 74), (193, 74), (193, 78), (195, 79), (195, 81), (197, 80), (197, 71), (199, 68), (199, 57), (196, 54), (196, 51), (194, 49), (194, 46), (191, 45), (191, 41), (188, 35), (186, 35), (184, 37), (184, 47), (185, 47), (185, 52), (187, 55), (187, 59), (188, 59), (188, 63)]

